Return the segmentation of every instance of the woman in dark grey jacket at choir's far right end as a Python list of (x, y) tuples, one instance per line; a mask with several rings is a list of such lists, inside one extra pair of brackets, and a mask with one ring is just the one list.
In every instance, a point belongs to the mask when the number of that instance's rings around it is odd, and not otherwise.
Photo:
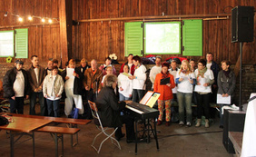
[[(218, 94), (221, 94), (222, 97), (228, 97), (231, 96), (231, 102), (234, 98), (234, 90), (235, 90), (235, 74), (231, 71), (231, 62), (224, 60), (222, 61), (222, 71), (218, 74)], [(223, 128), (223, 115), (222, 115), (222, 107), (223, 105), (228, 104), (222, 104), (220, 103), (220, 128)], [(231, 104), (230, 104), (231, 105)]]

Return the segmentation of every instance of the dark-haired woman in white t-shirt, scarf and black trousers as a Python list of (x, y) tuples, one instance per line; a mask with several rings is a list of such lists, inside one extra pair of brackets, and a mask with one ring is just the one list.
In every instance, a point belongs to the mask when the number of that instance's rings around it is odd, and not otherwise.
[(207, 69), (206, 61), (200, 59), (198, 61), (198, 69), (195, 70), (197, 83), (194, 87), (197, 98), (197, 123), (196, 127), (201, 125), (202, 110), (205, 114), (205, 127), (209, 127), (210, 118), (210, 98), (212, 93), (212, 83), (214, 83), (214, 75), (211, 69)]

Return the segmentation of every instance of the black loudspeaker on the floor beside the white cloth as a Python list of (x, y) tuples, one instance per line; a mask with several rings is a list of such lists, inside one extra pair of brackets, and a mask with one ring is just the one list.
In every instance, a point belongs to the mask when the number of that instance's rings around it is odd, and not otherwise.
[(243, 132), (245, 112), (224, 110), (222, 142), (227, 152), (235, 153), (229, 132)]

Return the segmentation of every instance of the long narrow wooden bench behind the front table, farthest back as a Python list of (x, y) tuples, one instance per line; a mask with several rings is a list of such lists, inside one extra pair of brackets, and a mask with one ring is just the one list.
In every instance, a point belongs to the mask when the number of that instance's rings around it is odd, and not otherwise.
[[(12, 115), (13, 113), (7, 113)], [(91, 123), (92, 120), (84, 120), (84, 119), (73, 119), (73, 118), (61, 118), (61, 117), (47, 117), (47, 116), (39, 116), (39, 115), (27, 115), (27, 114), (15, 114), (15, 116), (20, 117), (29, 117), (29, 118), (36, 118), (36, 119), (44, 119), (44, 120), (51, 120), (54, 123), (66, 123), (67, 128), (77, 128), (77, 124), (85, 125), (87, 123)], [(73, 142), (73, 136), (71, 135), (71, 146), (74, 147), (78, 143), (78, 133), (75, 133), (76, 142)]]

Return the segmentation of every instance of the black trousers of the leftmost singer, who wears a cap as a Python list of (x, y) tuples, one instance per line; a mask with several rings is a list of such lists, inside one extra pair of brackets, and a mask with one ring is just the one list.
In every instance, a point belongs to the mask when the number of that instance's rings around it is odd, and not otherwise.
[(24, 97), (15, 97), (9, 99), (11, 113), (23, 114), (24, 109)]

